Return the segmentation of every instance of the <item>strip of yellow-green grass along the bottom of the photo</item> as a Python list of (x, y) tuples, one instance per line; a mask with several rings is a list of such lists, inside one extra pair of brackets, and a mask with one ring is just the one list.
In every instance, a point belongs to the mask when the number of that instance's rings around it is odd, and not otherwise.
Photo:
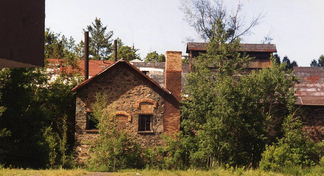
[(86, 176), (126, 176), (126, 175), (148, 175), (148, 176), (162, 176), (162, 175), (171, 175), (171, 176), (209, 176), (209, 175), (219, 175), (219, 176), (234, 176), (234, 175), (262, 175), (262, 176), (275, 176), (275, 175), (309, 175), (309, 176), (320, 176), (324, 175), (324, 168), (313, 167), (310, 169), (290, 169), (284, 171), (284, 173), (277, 172), (265, 172), (261, 170), (225, 170), (225, 169), (215, 169), (209, 171), (202, 170), (121, 170), (119, 172), (90, 172), (85, 169), (56, 169), (56, 170), (32, 170), (32, 169), (0, 169), (1, 176), (7, 175), (35, 175), (35, 176), (73, 176), (73, 175), (86, 175)]

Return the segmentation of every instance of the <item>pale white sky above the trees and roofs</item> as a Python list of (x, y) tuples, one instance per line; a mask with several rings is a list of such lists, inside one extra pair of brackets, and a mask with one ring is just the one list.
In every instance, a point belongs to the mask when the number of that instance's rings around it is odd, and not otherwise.
[[(303, 67), (324, 54), (324, 1), (224, 0), (224, 5), (231, 10), (239, 2), (246, 23), (260, 13), (264, 16), (242, 43), (261, 43), (270, 32), (277, 54)], [(45, 26), (72, 36), (76, 43), (84, 40), (83, 29), (96, 17), (113, 31), (113, 39), (119, 37), (140, 49), (141, 58), (151, 51), (186, 54), (188, 37), (203, 42), (184, 20), (178, 0), (46, 0), (45, 4)]]

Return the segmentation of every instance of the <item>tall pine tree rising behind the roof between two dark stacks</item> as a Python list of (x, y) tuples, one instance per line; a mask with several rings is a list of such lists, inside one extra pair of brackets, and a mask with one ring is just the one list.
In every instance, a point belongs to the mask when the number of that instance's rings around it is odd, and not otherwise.
[[(107, 30), (107, 26), (101, 23), (100, 18), (96, 17), (92, 25), (86, 28), (89, 35), (89, 54), (92, 60), (107, 60), (112, 51), (112, 31)], [(84, 31), (86, 31), (84, 29)]]

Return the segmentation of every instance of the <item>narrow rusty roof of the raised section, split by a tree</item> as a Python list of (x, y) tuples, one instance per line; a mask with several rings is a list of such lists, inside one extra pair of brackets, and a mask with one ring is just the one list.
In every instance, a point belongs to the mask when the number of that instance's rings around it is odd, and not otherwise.
[[(208, 43), (188, 42), (186, 53), (189, 51), (206, 51)], [(241, 52), (277, 52), (275, 44), (241, 44), (241, 48), (237, 51)]]

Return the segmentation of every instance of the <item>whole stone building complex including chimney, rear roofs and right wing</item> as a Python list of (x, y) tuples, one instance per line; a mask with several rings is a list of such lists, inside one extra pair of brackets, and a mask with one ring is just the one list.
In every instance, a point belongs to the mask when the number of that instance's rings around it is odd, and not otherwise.
[[(76, 92), (75, 144), (77, 159), (82, 162), (98, 129), (89, 119), (91, 103), (97, 92), (106, 93), (114, 102), (118, 128), (133, 134), (143, 146), (161, 144), (160, 135), (174, 134), (180, 125), (179, 101), (194, 57), (206, 52), (205, 43), (188, 43), (189, 65), (181, 64), (182, 53), (167, 51), (166, 63), (90, 61), (90, 79), (79, 84)], [(274, 44), (243, 44), (239, 52), (254, 56), (248, 71), (270, 67)], [(80, 61), (83, 68), (84, 61)], [(314, 141), (324, 139), (324, 69), (296, 67), (297, 106), (306, 112), (303, 130)], [(110, 107), (108, 107), (110, 108)]]

